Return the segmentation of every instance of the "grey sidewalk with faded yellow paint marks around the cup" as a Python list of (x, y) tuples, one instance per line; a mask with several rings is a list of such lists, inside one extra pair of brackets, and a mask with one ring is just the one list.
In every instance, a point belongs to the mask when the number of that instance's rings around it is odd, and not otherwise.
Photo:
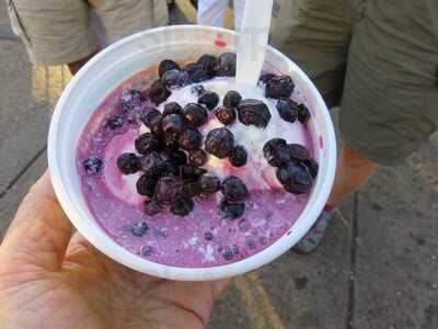
[[(180, 4), (188, 1), (177, 1)], [(189, 8), (173, 21), (193, 18)], [(35, 68), (0, 1), (0, 236), (46, 162), (65, 68)], [(323, 246), (237, 277), (210, 328), (438, 328), (438, 136), (336, 212)]]

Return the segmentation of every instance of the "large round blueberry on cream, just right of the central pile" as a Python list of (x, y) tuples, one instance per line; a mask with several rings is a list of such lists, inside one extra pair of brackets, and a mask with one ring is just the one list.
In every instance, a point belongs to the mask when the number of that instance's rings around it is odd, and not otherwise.
[(212, 129), (207, 134), (205, 150), (219, 159), (230, 156), (234, 147), (234, 136), (227, 128)]

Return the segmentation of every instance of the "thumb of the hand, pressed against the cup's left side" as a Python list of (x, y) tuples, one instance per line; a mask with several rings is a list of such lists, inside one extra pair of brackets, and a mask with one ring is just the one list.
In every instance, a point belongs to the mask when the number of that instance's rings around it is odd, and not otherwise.
[(24, 197), (1, 246), (18, 263), (58, 270), (70, 241), (71, 224), (46, 172)]

